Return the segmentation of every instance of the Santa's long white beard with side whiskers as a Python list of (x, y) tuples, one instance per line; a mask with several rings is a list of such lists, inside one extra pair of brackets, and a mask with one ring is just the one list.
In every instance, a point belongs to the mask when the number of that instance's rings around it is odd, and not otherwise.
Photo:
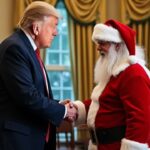
[(103, 83), (112, 75), (113, 69), (118, 67), (119, 64), (127, 60), (129, 56), (128, 50), (125, 45), (121, 45), (119, 50), (115, 49), (115, 44), (112, 44), (104, 55), (100, 56), (97, 60), (94, 69), (95, 83)]

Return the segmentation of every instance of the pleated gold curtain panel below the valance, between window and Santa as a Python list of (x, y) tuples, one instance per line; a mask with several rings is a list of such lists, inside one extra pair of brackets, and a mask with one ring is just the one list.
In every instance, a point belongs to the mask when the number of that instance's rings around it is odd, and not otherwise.
[(96, 50), (92, 43), (92, 25), (80, 25), (69, 19), (72, 75), (75, 99), (89, 98), (93, 89), (93, 67)]

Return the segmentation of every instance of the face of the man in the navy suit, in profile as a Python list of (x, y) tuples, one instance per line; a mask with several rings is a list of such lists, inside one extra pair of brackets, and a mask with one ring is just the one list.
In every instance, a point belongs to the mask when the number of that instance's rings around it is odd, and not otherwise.
[(54, 16), (49, 16), (44, 19), (36, 39), (40, 48), (50, 47), (52, 40), (58, 34), (57, 25), (58, 19)]

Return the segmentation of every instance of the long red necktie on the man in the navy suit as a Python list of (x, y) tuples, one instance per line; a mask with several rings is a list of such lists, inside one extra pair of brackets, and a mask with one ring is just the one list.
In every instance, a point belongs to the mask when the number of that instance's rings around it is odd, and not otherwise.
[[(44, 77), (44, 80), (45, 80), (45, 86), (46, 86), (47, 94), (48, 94), (48, 97), (49, 97), (47, 77), (46, 77), (46, 73), (45, 73), (45, 70), (44, 70), (42, 59), (40, 57), (40, 50), (37, 48), (35, 52), (36, 52), (36, 57), (38, 59), (38, 62), (39, 62), (40, 66), (41, 66), (41, 69), (42, 69), (43, 77)], [(49, 135), (50, 135), (50, 123), (48, 124), (47, 132), (46, 132), (46, 136), (45, 136), (46, 142), (48, 142), (48, 140), (49, 140)]]

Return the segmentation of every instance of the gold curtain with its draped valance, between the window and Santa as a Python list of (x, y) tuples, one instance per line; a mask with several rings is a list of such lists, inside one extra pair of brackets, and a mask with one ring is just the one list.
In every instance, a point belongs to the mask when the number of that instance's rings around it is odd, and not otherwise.
[[(105, 0), (64, 0), (71, 17), (69, 37), (75, 99), (90, 98), (97, 52), (92, 42), (93, 26), (106, 18)], [(103, 10), (103, 18), (100, 18)], [(102, 20), (103, 19), (103, 20)]]

